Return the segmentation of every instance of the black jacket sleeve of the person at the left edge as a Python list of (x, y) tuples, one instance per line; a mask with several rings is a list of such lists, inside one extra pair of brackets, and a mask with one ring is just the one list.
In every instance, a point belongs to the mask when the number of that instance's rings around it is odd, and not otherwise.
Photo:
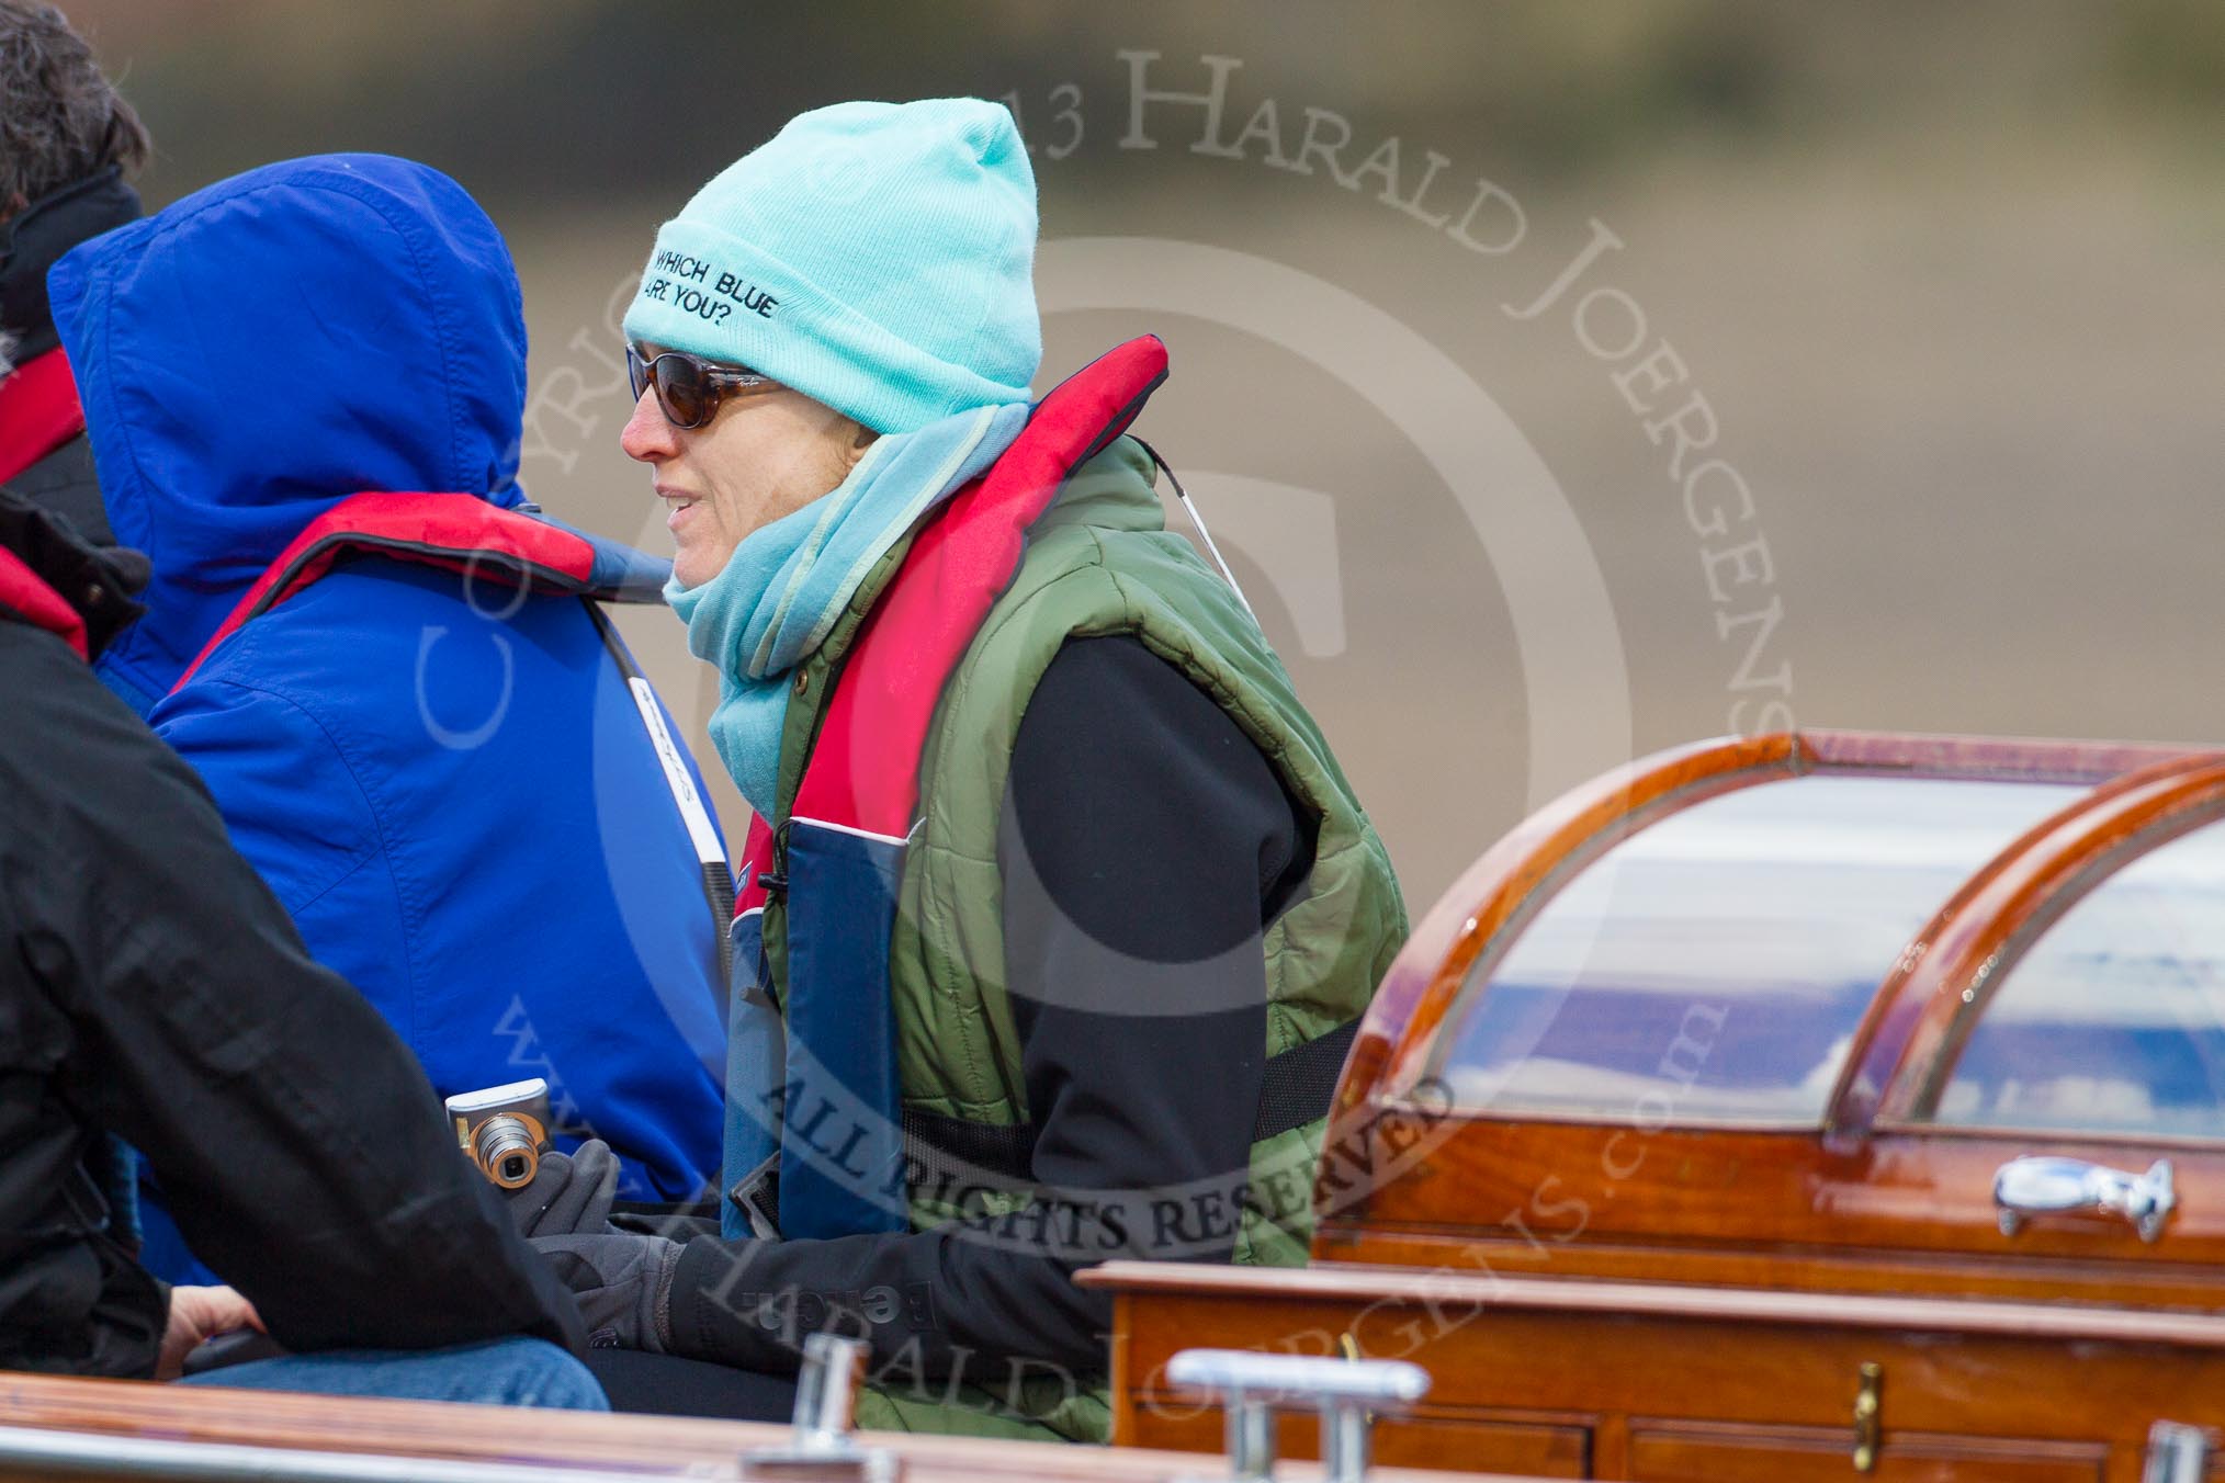
[(9, 696), (9, 914), (71, 1027), (53, 1069), (294, 1350), (538, 1334), (572, 1296), (456, 1149), (378, 1014), (300, 945), (207, 789), (62, 649)]

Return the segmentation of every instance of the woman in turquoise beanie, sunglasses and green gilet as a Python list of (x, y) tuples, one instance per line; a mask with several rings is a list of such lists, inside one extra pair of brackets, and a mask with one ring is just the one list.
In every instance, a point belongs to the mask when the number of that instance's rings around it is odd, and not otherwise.
[(1001, 107), (846, 102), (668, 220), (625, 313), (623, 447), (759, 818), (721, 1236), (536, 1236), (590, 1327), (668, 1356), (605, 1370), (621, 1410), (774, 1410), (676, 1376), (839, 1330), (866, 1425), (1101, 1441), (1077, 1267), (1306, 1258), (1404, 907), (1124, 436), (1164, 345), (1030, 400), (1035, 236)]

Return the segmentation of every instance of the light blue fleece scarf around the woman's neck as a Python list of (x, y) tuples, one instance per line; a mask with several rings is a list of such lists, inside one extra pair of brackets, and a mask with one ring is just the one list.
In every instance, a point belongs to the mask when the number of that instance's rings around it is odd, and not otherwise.
[(830, 494), (750, 531), (719, 576), (665, 583), (688, 649), (719, 667), (712, 747), (761, 818), (774, 818), (794, 667), (912, 522), (997, 462), (1026, 425), (1028, 402), (1003, 402), (886, 434)]

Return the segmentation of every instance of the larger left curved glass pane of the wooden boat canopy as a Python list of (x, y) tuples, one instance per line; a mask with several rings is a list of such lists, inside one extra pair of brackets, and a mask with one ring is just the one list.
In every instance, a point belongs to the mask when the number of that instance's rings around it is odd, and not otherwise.
[(1669, 814), (1477, 963), (1433, 1072), (1473, 1112), (1820, 1123), (1907, 945), (2085, 792), (1813, 774)]

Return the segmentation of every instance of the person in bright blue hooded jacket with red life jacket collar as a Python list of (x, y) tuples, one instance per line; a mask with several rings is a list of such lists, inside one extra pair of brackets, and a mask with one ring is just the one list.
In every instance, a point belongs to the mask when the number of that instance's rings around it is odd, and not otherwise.
[[(494, 222), (425, 165), (291, 160), (93, 238), (49, 296), (107, 522), (154, 563), (100, 678), (436, 1092), (543, 1076), (621, 1196), (699, 1198), (732, 885), (596, 607), (663, 563), (518, 489)], [(160, 1210), (147, 1254), (191, 1272)]]

